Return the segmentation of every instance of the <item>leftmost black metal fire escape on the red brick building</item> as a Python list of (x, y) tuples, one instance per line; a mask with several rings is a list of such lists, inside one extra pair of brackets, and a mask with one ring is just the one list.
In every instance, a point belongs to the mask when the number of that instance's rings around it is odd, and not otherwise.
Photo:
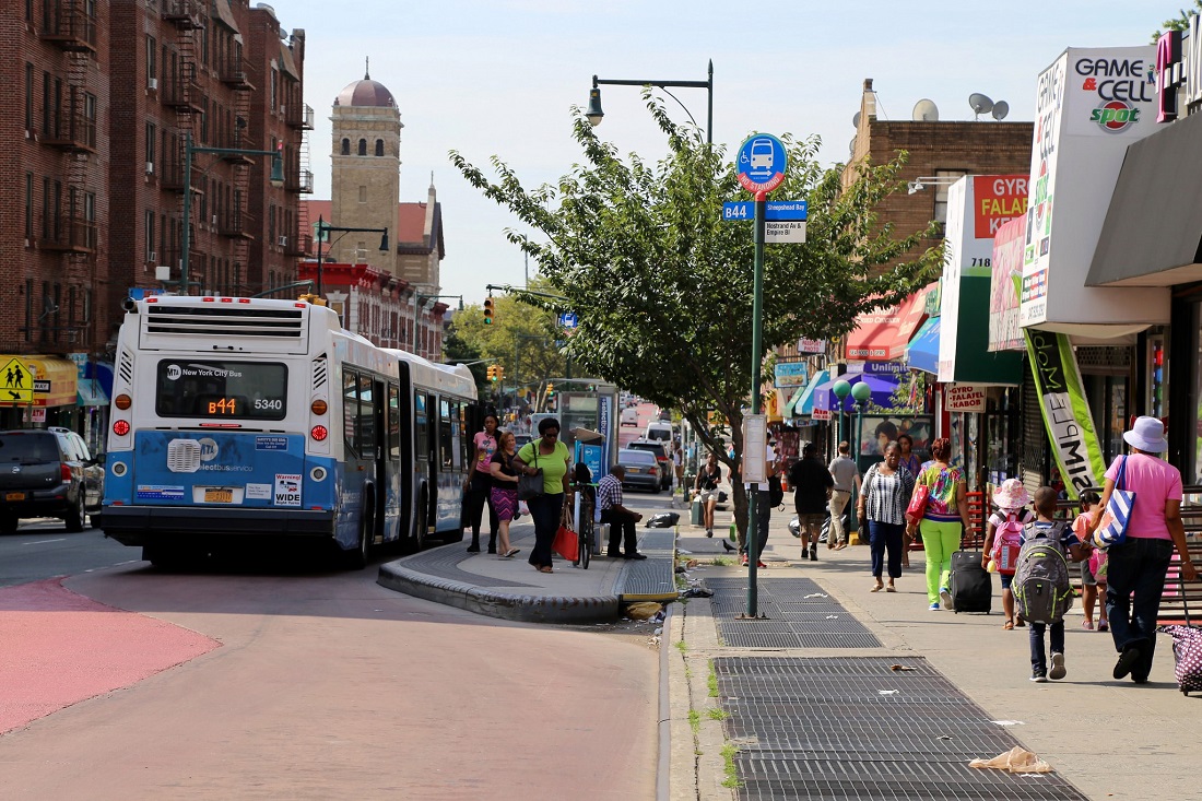
[(30, 312), (30, 325), (42, 342), (72, 348), (90, 346), (91, 312), (84, 292), (96, 284), (96, 183), (90, 156), (96, 153), (96, 95), (89, 91), (96, 53), (96, 18), (85, 0), (52, 0), (42, 6), (38, 37), (59, 48), (65, 59), (66, 83), (55, 82), (50, 108), (43, 119), (41, 142), (61, 152), (64, 194), (43, 210), (37, 247), (64, 259), (52, 295)]

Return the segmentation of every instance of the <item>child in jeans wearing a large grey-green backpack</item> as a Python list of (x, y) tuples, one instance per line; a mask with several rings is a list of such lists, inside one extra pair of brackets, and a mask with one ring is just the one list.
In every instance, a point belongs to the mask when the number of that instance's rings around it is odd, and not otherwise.
[[(1064, 678), (1064, 615), (1072, 606), (1069, 583), (1067, 551), (1073, 562), (1088, 556), (1072, 528), (1054, 520), (1057, 492), (1052, 487), (1035, 491), (1035, 522), (1023, 529), (1012, 588), (1019, 613), (1031, 624), (1031, 681)], [(1052, 668), (1048, 669), (1043, 633), (1052, 629)]]

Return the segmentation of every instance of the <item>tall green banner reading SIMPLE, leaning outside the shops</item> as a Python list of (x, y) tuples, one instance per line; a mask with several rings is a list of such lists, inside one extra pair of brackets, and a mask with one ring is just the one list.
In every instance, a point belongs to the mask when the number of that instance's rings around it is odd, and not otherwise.
[(1052, 452), (1065, 491), (1076, 499), (1087, 487), (1101, 486), (1106, 474), (1094, 417), (1077, 370), (1077, 355), (1067, 334), (1031, 328), (1024, 328), (1023, 333)]

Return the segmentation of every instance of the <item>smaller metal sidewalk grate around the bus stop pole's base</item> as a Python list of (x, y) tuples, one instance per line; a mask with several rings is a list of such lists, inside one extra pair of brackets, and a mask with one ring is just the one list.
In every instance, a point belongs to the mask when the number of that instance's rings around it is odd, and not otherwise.
[(734, 648), (880, 648), (881, 642), (810, 578), (761, 578), (756, 611), (767, 619), (740, 621), (746, 578), (707, 578), (718, 635)]

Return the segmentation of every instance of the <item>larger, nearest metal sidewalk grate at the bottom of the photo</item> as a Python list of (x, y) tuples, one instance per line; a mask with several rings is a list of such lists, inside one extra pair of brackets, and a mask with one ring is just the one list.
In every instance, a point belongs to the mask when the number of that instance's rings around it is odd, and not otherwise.
[(740, 799), (1085, 801), (1055, 773), (969, 767), (1018, 741), (924, 659), (722, 657), (714, 671)]

